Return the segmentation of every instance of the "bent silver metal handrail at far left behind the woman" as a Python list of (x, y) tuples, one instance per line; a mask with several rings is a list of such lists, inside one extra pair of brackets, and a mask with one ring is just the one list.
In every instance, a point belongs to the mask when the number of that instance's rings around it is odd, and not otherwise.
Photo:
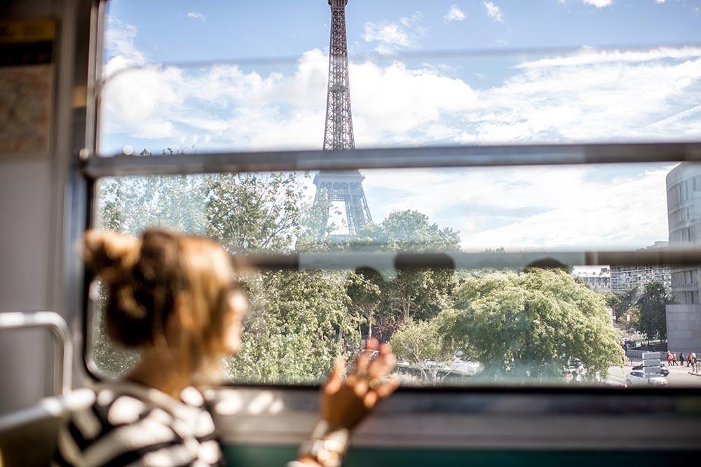
[[(56, 312), (0, 312), (0, 330), (48, 328), (54, 337), (54, 391), (64, 396), (71, 391), (73, 342), (71, 331)], [(61, 368), (58, 372), (56, 368)]]

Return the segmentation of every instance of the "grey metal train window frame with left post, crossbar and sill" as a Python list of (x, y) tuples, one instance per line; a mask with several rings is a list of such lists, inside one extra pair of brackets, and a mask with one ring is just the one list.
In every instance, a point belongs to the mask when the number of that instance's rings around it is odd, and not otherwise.
[[(86, 380), (100, 380), (102, 375), (90, 368), (89, 349), (86, 336), (88, 335), (88, 287), (90, 278), (86, 277), (83, 264), (75, 253), (75, 245), (81, 239), (84, 230), (91, 225), (93, 215), (95, 181), (102, 176), (119, 176), (129, 174), (182, 174), (184, 172), (202, 173), (216, 169), (215, 162), (221, 160), (221, 166), (229, 172), (250, 170), (252, 172), (265, 170), (268, 167), (266, 158), (286, 160), (288, 169), (304, 169), (298, 167), (297, 160), (311, 167), (324, 165), (326, 168), (356, 167), (365, 161), (362, 167), (426, 167), (426, 160), (416, 162), (417, 157), (429, 158), (436, 153), (435, 148), (402, 148), (357, 150), (353, 153), (353, 161), (349, 162), (348, 154), (315, 152), (311, 156), (299, 153), (245, 153), (231, 155), (188, 155), (188, 160), (170, 157), (168, 166), (163, 166), (163, 160), (142, 160), (131, 158), (99, 158), (97, 153), (97, 121), (99, 95), (96, 90), (100, 83), (100, 68), (102, 60), (102, 39), (104, 35), (104, 18), (107, 0), (93, 0), (93, 11), (90, 24), (90, 44), (85, 43), (80, 50), (89, 57), (87, 80), (87, 105), (85, 116), (74, 124), (76, 143), (65, 148), (69, 176), (70, 211), (65, 216), (66, 232), (62, 242), (62, 255), (65, 258), (65, 271), (57, 279), (57, 288), (64, 290), (62, 299), (66, 303), (67, 316), (74, 329), (74, 339), (81, 347), (76, 352), (76, 367), (74, 383), (86, 384)], [(85, 118), (85, 121), (82, 120)], [(84, 139), (83, 139), (84, 138)], [(82, 139), (82, 140), (81, 140)], [(84, 143), (83, 143), (84, 141)], [(84, 144), (81, 148), (81, 145)], [(439, 153), (440, 167), (467, 167), (468, 162), (476, 167), (528, 165), (527, 162), (540, 164), (582, 164), (582, 163), (613, 163), (613, 162), (700, 162), (701, 143), (674, 144), (597, 144), (597, 145), (548, 145), (540, 146), (541, 151), (561, 153), (559, 157), (550, 156), (545, 162), (539, 158), (538, 149), (533, 146), (484, 146), (472, 148), (442, 148)], [(576, 146), (576, 147), (575, 147)], [(72, 153), (73, 148), (81, 148)], [(499, 153), (503, 148), (513, 148), (509, 157)], [(402, 155), (404, 153), (404, 155)], [(465, 153), (473, 155), (459, 157)], [(365, 155), (361, 155), (365, 154)], [(395, 157), (388, 162), (386, 156)], [(391, 154), (395, 154), (392, 156)], [(450, 165), (451, 155), (458, 155), (456, 160), (461, 165)], [(360, 155), (360, 158), (358, 157)], [(516, 155), (521, 155), (517, 158)], [(408, 156), (408, 157), (407, 157)], [(470, 156), (472, 157), (472, 156)], [(402, 158), (404, 159), (402, 162)], [(339, 162), (339, 160), (341, 162)], [(362, 160), (360, 160), (362, 159)], [(312, 161), (314, 161), (312, 163)], [(372, 161), (375, 161), (371, 163)], [(384, 161), (384, 162), (383, 162)], [(540, 162), (538, 162), (540, 161)], [(379, 162), (381, 162), (380, 165)], [(275, 164), (280, 165), (277, 160)], [(343, 166), (345, 164), (345, 166)], [(418, 164), (412, 166), (411, 164)], [(158, 167), (158, 166), (161, 167)], [(199, 165), (199, 168), (197, 166)], [(366, 167), (367, 166), (367, 167)], [(205, 169), (203, 169), (205, 167)], [(360, 165), (358, 165), (360, 167)], [(257, 169), (257, 170), (252, 170)], [(268, 167), (270, 169), (270, 167)], [(646, 252), (623, 252), (634, 256)], [(692, 253), (697, 254), (697, 251)], [(598, 258), (594, 256), (594, 258)], [(657, 255), (664, 264), (672, 264), (674, 258)], [(299, 258), (259, 258), (262, 266), (271, 267), (273, 263), (284, 267), (297, 267)], [(285, 263), (285, 261), (287, 261)], [(650, 258), (643, 258), (640, 264), (650, 264)], [(660, 263), (662, 264), (662, 263)], [(613, 268), (612, 268), (613, 270)], [(82, 331), (82, 335), (80, 333)], [(222, 384), (214, 388), (215, 401), (224, 400), (227, 396), (250, 400), (261, 396), (273, 396), (273, 400), (283, 401), (286, 407), (279, 414), (262, 412), (261, 414), (215, 414), (221, 441), (224, 445), (252, 445), (253, 450), (260, 452), (261, 446), (275, 447), (286, 445), (294, 452), (301, 440), (306, 439), (316, 414), (318, 403), (318, 386), (261, 386), (259, 384)], [(701, 393), (698, 388), (655, 388), (635, 387), (632, 389), (616, 389), (592, 386), (461, 386), (461, 387), (402, 387), (392, 398), (383, 404), (371, 420), (360, 427), (355, 433), (354, 449), (358, 447), (373, 447), (381, 449), (397, 446), (397, 440), (404, 442), (411, 456), (421, 456), (421, 449), (435, 452), (436, 449), (458, 450), (489, 450), (499, 452), (530, 451), (552, 453), (569, 450), (575, 454), (594, 454), (611, 451), (614, 454), (624, 452), (655, 451), (657, 438), (651, 434), (648, 426), (658, 428), (662, 433), (675, 433), (667, 438), (667, 449), (681, 449), (674, 452), (674, 459), (687, 456), (691, 459), (695, 452), (689, 450), (697, 442), (698, 407), (701, 403)], [(694, 408), (696, 407), (696, 408)], [(694, 412), (695, 410), (695, 412)], [(436, 424), (433, 419), (440, 418)], [(632, 418), (634, 417), (634, 418)], [(694, 418), (696, 417), (696, 418)], [(459, 423), (456, 426), (455, 419)], [(433, 421), (433, 425), (431, 424)], [(448, 422), (451, 422), (449, 424)], [(527, 428), (524, 430), (524, 423)], [(423, 431), (421, 426), (424, 426)], [(387, 428), (391, 431), (407, 430), (419, 427), (418, 434), (390, 433), (394, 437), (387, 438)], [(453, 439), (436, 439), (433, 428), (444, 428), (442, 435)], [(450, 431), (446, 432), (445, 428)], [(457, 429), (456, 429), (457, 428)], [(245, 434), (245, 436), (244, 436)], [(686, 449), (686, 450), (684, 450)], [(660, 448), (657, 448), (660, 450)], [(416, 453), (416, 454), (414, 454)], [(665, 455), (667, 455), (665, 453)], [(425, 454), (424, 454), (425, 456)], [(255, 461), (257, 459), (250, 459)], [(254, 462), (243, 462), (247, 463)]]

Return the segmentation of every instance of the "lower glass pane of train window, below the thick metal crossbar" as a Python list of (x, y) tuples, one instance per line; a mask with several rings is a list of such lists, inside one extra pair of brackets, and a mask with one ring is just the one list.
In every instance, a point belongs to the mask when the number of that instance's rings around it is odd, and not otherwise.
[[(374, 254), (348, 267), (250, 274), (243, 349), (225, 365), (234, 382), (320, 382), (334, 357), (352, 358), (372, 335), (393, 344), (405, 384), (616, 385), (626, 384), (644, 349), (665, 347), (655, 343), (661, 335), (671, 351), (690, 347), (689, 320), (700, 312), (691, 280), (697, 267), (540, 270), (499, 267), (498, 257), (665, 249), (667, 183), (700, 169), (363, 170), (351, 175), (365, 177), (370, 216), (352, 234), (348, 209), (366, 204), (349, 201), (346, 209), (348, 186), (329, 198), (315, 186), (318, 172), (111, 177), (97, 182), (95, 226), (138, 233), (159, 225), (212, 237), (232, 253), (301, 253), (303, 267), (311, 253), (491, 255), (484, 267), (456, 270), (395, 270)], [(670, 238), (672, 246), (690, 245)], [(104, 293), (93, 296), (95, 362), (124, 370), (135, 356), (107, 342)], [(651, 347), (640, 348), (648, 337)], [(670, 385), (697, 384), (671, 371)]]

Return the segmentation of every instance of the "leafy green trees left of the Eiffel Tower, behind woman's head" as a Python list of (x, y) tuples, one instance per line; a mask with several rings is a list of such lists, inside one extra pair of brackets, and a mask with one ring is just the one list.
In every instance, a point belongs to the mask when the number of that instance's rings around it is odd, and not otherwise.
[[(229, 251), (289, 252), (319, 231), (321, 216), (296, 174), (116, 177), (98, 189), (97, 226), (121, 232), (156, 225), (207, 235)], [(310, 241), (304, 248), (318, 246)], [(261, 272), (247, 279), (252, 311), (230, 377), (311, 382), (327, 374), (336, 356), (359, 347), (360, 318), (348, 313), (343, 274)], [(95, 360), (114, 374), (128, 370), (137, 355), (114, 347), (102, 328), (99, 323)]]

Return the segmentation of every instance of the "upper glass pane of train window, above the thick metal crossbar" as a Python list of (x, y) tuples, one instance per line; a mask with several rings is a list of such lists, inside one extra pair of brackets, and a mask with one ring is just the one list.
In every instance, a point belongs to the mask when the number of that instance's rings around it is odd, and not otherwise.
[[(684, 44), (701, 43), (701, 28), (697, 7), (678, 3), (632, 14), (511, 1), (498, 15), (477, 3), (456, 16), (351, 1), (355, 146), (698, 140), (701, 48)], [(109, 5), (100, 153), (322, 148), (326, 2), (213, 5)]]

